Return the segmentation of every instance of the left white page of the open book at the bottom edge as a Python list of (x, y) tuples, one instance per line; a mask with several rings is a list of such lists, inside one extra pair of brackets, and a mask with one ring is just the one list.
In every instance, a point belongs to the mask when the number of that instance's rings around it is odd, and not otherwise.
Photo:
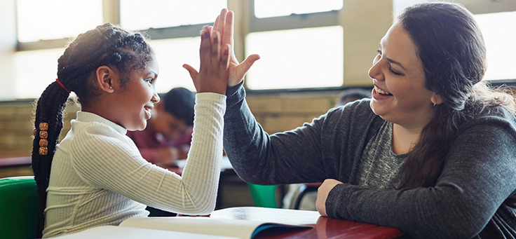
[(184, 233), (179, 231), (163, 231), (143, 228), (119, 226), (96, 226), (84, 231), (61, 235), (59, 239), (140, 239), (140, 238), (189, 238), (189, 239), (237, 239), (233, 237)]

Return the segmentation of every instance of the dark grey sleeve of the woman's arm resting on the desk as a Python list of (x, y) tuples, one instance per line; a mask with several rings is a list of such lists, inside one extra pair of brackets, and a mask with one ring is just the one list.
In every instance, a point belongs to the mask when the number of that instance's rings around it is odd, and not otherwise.
[(339, 184), (327, 198), (327, 214), (400, 228), (414, 238), (472, 238), (515, 199), (515, 125), (508, 111), (477, 118), (452, 144), (436, 186), (379, 191)]

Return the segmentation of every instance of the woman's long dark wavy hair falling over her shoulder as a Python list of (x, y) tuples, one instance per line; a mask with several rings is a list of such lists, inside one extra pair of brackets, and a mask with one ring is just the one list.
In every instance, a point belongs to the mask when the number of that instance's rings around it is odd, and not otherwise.
[(481, 81), (487, 68), (486, 48), (466, 8), (452, 3), (416, 4), (405, 8), (398, 22), (416, 44), (426, 88), (444, 100), (435, 106), (435, 116), (409, 152), (400, 187), (435, 186), (461, 125), (493, 105), (503, 105), (514, 114), (515, 100)]

